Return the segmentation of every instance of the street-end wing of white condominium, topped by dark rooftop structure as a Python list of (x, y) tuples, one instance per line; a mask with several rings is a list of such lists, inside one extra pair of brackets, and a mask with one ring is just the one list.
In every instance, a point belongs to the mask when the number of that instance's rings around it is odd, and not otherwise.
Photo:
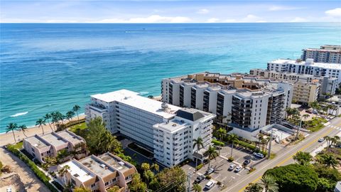
[[(175, 166), (185, 159), (199, 159), (194, 156), (196, 151), (192, 141), (201, 137), (202, 149), (206, 150), (210, 146), (214, 117), (214, 114), (208, 112), (183, 108), (178, 110), (169, 122), (155, 124), (153, 128), (156, 161), (165, 166)], [(200, 154), (200, 151), (197, 153)]]

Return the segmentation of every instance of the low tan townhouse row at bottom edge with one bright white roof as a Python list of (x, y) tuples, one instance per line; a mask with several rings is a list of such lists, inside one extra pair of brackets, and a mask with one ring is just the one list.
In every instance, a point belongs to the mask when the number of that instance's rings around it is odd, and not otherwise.
[(119, 186), (120, 191), (129, 191), (127, 183), (137, 173), (135, 166), (109, 152), (100, 156), (87, 156), (78, 161), (72, 159), (58, 165), (57, 171), (64, 166), (69, 166), (69, 169), (63, 176), (57, 174), (60, 183), (72, 183), (74, 187), (101, 192), (114, 186)]

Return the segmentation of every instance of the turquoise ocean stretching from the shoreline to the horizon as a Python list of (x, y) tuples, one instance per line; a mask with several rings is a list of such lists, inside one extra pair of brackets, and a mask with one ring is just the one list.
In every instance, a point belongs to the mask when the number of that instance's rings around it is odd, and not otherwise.
[(340, 23), (1, 23), (0, 31), (0, 132), (75, 104), (84, 110), (95, 93), (159, 95), (162, 78), (248, 72), (299, 58), (302, 48), (341, 44)]

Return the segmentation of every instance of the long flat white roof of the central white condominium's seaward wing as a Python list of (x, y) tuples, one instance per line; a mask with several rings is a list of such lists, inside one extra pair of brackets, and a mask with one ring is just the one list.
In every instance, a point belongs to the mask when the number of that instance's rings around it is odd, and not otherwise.
[(162, 102), (142, 97), (138, 92), (129, 90), (117, 90), (114, 92), (92, 95), (91, 97), (104, 102), (121, 102), (131, 107), (157, 114), (165, 119), (174, 117), (175, 112), (181, 109), (181, 107), (175, 105), (168, 105), (166, 110), (162, 110)]

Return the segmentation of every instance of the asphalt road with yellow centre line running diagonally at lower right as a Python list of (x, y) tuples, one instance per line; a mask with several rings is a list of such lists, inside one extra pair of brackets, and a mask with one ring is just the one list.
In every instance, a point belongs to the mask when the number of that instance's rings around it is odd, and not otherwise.
[(284, 149), (283, 153), (278, 153), (275, 159), (267, 160), (268, 161), (267, 164), (264, 164), (264, 166), (259, 167), (253, 173), (244, 176), (243, 178), (240, 179), (240, 181), (237, 181), (237, 183), (234, 183), (232, 186), (227, 186), (227, 189), (224, 191), (225, 192), (244, 191), (244, 189), (248, 186), (249, 183), (255, 183), (259, 181), (259, 179), (266, 170), (272, 169), (275, 166), (285, 166), (287, 164), (292, 164), (293, 163), (292, 156), (295, 155), (297, 151), (307, 152), (313, 151), (322, 144), (318, 142), (318, 139), (320, 137), (325, 137), (326, 135), (334, 137), (336, 134), (341, 132), (340, 127), (341, 118), (337, 117), (335, 119), (332, 119), (328, 126), (324, 127), (323, 129), (320, 129), (320, 131), (318, 132), (310, 134), (302, 142), (296, 144), (296, 146), (293, 146), (290, 149)]

